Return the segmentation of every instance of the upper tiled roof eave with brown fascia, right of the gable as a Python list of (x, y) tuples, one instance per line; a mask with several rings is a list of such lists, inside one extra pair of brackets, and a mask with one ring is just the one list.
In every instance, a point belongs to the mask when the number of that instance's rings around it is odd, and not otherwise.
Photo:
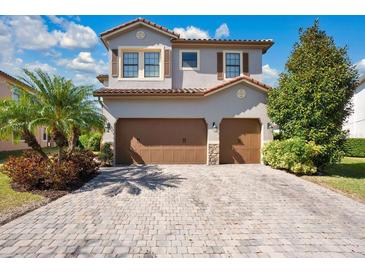
[(172, 39), (172, 46), (204, 46), (204, 47), (253, 47), (261, 48), (263, 53), (274, 44), (272, 39), (247, 40), (247, 39)]

